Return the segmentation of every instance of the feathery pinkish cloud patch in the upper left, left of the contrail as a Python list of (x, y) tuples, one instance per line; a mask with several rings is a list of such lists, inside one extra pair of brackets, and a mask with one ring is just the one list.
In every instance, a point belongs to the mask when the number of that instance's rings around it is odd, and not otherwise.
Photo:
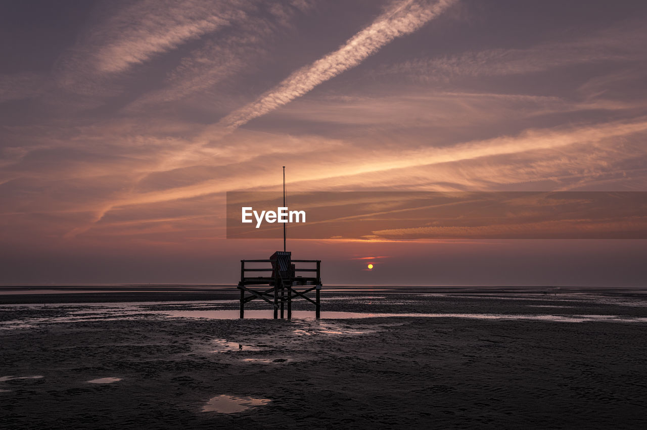
[[(115, 76), (184, 43), (240, 25), (258, 0), (139, 0), (102, 16), (58, 60), (58, 85), (78, 94), (112, 96)], [(105, 14), (104, 14), (105, 15)]]

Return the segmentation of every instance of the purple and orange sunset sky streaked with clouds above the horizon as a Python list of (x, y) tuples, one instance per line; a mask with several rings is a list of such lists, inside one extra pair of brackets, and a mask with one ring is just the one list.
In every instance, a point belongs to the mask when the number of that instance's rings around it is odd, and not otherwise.
[[(0, 283), (236, 283), (282, 243), (226, 239), (226, 191), (281, 166), (289, 192), (647, 191), (646, 25), (644, 1), (2, 2)], [(644, 239), (289, 248), (329, 284), (647, 281)]]

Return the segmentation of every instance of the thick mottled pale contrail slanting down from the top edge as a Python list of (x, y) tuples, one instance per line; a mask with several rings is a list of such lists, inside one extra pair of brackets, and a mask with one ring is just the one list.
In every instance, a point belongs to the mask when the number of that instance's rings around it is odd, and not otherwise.
[(355, 67), (393, 39), (414, 32), (455, 1), (457, 0), (406, 0), (397, 3), (369, 27), (348, 39), (338, 50), (296, 70), (254, 102), (225, 116), (217, 125), (233, 131), (250, 120), (291, 102), (320, 83)]

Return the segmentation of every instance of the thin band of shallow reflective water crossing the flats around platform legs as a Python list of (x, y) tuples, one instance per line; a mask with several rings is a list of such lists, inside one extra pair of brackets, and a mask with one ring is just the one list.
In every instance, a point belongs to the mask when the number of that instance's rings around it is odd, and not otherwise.
[[(426, 313), (429, 308), (429, 297), (452, 297), (456, 303), (450, 303), (443, 299), (437, 303), (444, 303), (443, 310), (450, 312)], [(479, 299), (474, 301), (474, 299)], [(465, 301), (466, 300), (466, 301)], [(493, 301), (501, 303), (492, 303)], [(404, 297), (389, 296), (331, 296), (322, 299), (323, 306), (339, 309), (340, 311), (324, 310), (321, 317), (325, 319), (358, 319), (372, 317), (428, 317), (428, 318), (468, 318), (468, 319), (498, 319), (498, 320), (531, 320), (531, 321), (554, 321), (562, 323), (582, 323), (589, 321), (622, 322), (622, 323), (644, 323), (647, 322), (644, 312), (640, 308), (647, 305), (646, 300), (633, 299), (628, 297), (607, 297), (595, 296), (593, 294), (573, 293), (560, 294), (558, 297), (545, 296), (543, 294), (410, 294)], [(326, 302), (331, 301), (327, 306)], [(463, 303), (463, 301), (465, 301)], [(519, 303), (516, 308), (508, 305), (509, 301)], [(528, 303), (521, 303), (527, 301)], [(544, 303), (536, 303), (543, 301)], [(446, 304), (450, 303), (450, 306)], [(490, 303), (492, 303), (490, 305)], [(377, 306), (377, 307), (376, 307)], [(467, 306), (467, 307), (466, 307)], [(602, 310), (601, 306), (606, 309)], [(608, 306), (614, 306), (609, 308)], [(624, 310), (615, 308), (624, 306)], [(627, 307), (635, 311), (627, 312)], [(129, 302), (129, 303), (91, 303), (87, 305), (60, 303), (47, 306), (34, 305), (8, 305), (0, 306), (1, 311), (8, 311), (14, 319), (0, 321), (0, 329), (12, 330), (19, 328), (38, 327), (43, 324), (52, 323), (86, 323), (90, 321), (111, 321), (111, 320), (135, 320), (155, 318), (191, 318), (191, 319), (238, 319), (239, 310), (237, 300), (214, 300), (214, 301), (167, 301), (167, 302)], [(443, 306), (440, 306), (443, 308)], [(381, 312), (366, 312), (372, 308)], [(389, 310), (393, 308), (393, 312)], [(438, 306), (435, 306), (438, 308)], [(470, 308), (472, 313), (451, 312)], [(553, 308), (554, 310), (551, 310)], [(600, 314), (595, 310), (600, 308)], [(364, 312), (345, 312), (345, 310), (357, 309)], [(406, 312), (402, 310), (420, 310), (421, 313)], [(543, 309), (544, 310), (542, 312)], [(613, 309), (613, 310), (611, 310)], [(25, 317), (17, 315), (17, 311), (23, 311)], [(400, 312), (398, 312), (398, 310)], [(385, 312), (386, 311), (386, 312)], [(510, 312), (512, 311), (512, 312)], [(591, 312), (593, 311), (593, 312)], [(606, 312), (605, 312), (606, 311)], [(551, 314), (545, 314), (551, 312)], [(617, 314), (616, 314), (617, 312)], [(273, 317), (271, 308), (258, 309), (250, 308), (245, 310), (246, 319), (271, 319)], [(20, 318), (20, 319), (18, 319)], [(294, 310), (292, 318), (295, 320), (313, 320), (314, 310)], [(325, 332), (325, 330), (322, 330)], [(305, 333), (299, 333), (305, 334)], [(329, 334), (337, 334), (329, 330)], [(236, 349), (250, 350), (254, 345), (241, 345), (238, 343), (228, 344), (214, 341), (214, 352), (224, 352)], [(241, 348), (242, 347), (242, 348)]]

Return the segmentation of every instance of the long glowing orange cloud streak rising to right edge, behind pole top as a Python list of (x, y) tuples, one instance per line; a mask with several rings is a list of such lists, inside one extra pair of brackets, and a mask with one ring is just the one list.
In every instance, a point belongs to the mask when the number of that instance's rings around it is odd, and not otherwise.
[[(529, 153), (529, 158), (536, 159), (538, 165), (528, 165), (528, 160), (523, 158), (523, 160), (518, 161), (519, 165), (512, 166), (511, 169), (520, 169), (521, 166), (527, 166), (525, 171), (514, 175), (513, 171), (505, 170), (505, 173), (496, 177), (496, 180), (510, 180), (512, 177), (517, 178), (518, 180), (523, 180), (522, 178), (528, 177), (536, 178), (539, 173), (542, 173), (543, 175), (554, 175), (554, 173), (558, 171), (558, 166), (554, 164), (554, 158), (552, 158), (552, 160), (546, 160), (545, 166), (540, 166), (540, 163), (543, 161), (543, 157), (538, 156), (538, 151), (547, 151), (547, 153), (555, 151), (553, 155), (556, 154), (559, 156), (560, 151), (571, 145), (601, 144), (602, 142), (610, 144), (608, 142), (609, 139), (617, 138), (619, 136), (630, 136), (635, 133), (644, 133), (644, 131), (647, 131), (647, 122), (642, 120), (641, 122), (610, 123), (599, 127), (577, 127), (574, 129), (559, 131), (527, 131), (520, 136), (504, 136), (477, 142), (465, 142), (463, 144), (447, 148), (423, 148), (410, 149), (407, 151), (400, 149), (397, 153), (394, 149), (393, 151), (384, 151), (370, 156), (362, 155), (360, 149), (356, 149), (356, 151), (351, 151), (351, 149), (349, 149), (347, 153), (339, 154), (338, 149), (331, 148), (329, 153), (327, 153), (327, 157), (332, 153), (338, 154), (338, 158), (334, 159), (334, 167), (327, 165), (317, 166), (313, 163), (312, 166), (309, 167), (307, 175), (305, 175), (308, 179), (303, 182), (303, 186), (305, 186), (305, 188), (309, 188), (314, 186), (315, 182), (319, 182), (321, 184), (322, 180), (326, 180), (326, 188), (330, 188), (331, 184), (334, 186), (337, 180), (340, 180), (344, 184), (362, 184), (362, 182), (365, 182), (370, 175), (377, 175), (379, 178), (384, 178), (384, 175), (391, 177), (391, 173), (397, 174), (397, 171), (407, 171), (407, 176), (411, 179), (411, 169), (423, 168), (428, 172), (430, 166), (443, 166), (443, 164), (452, 163), (454, 163), (454, 166), (447, 169), (447, 173), (453, 175), (451, 177), (452, 180), (457, 181), (456, 183), (459, 183), (458, 181), (462, 181), (463, 184), (475, 184), (474, 182), (471, 182), (472, 175), (468, 171), (464, 171), (460, 168), (457, 169), (457, 167), (459, 167), (457, 164), (461, 162), (469, 162), (471, 160), (484, 159), (487, 157), (502, 157), (500, 160), (496, 161), (496, 167), (493, 169), (494, 171), (497, 171), (497, 169), (500, 169), (502, 166), (509, 163), (510, 158), (506, 157), (519, 156), (523, 153)], [(271, 147), (268, 147), (266, 151), (267, 152), (264, 152), (265, 158), (269, 158), (272, 151)], [(577, 152), (579, 151), (581, 151), (581, 148), (579, 148)], [(579, 166), (579, 168), (590, 169), (594, 161), (600, 161), (598, 160), (597, 155), (598, 154), (591, 153), (589, 155), (589, 159), (587, 159), (582, 166)], [(294, 159), (303, 162), (305, 158), (312, 157), (310, 159), (314, 161), (319, 156), (321, 156), (320, 151), (311, 152), (310, 156), (307, 156), (304, 151), (301, 151), (298, 155), (294, 155)], [(616, 156), (623, 155), (618, 153)], [(631, 155), (624, 154), (624, 156)], [(329, 158), (329, 160), (330, 159), (331, 158)], [(232, 162), (235, 162), (236, 165), (238, 165), (239, 162), (244, 162), (244, 160), (237, 159), (236, 161), (232, 160)], [(552, 167), (550, 166), (551, 163), (553, 164)], [(481, 175), (476, 176), (487, 175), (485, 171), (481, 171), (480, 173)], [(261, 171), (259, 171), (258, 174), (254, 175), (252, 178), (247, 177), (246, 172), (242, 171), (239, 175), (230, 174), (227, 175), (226, 178), (208, 180), (189, 186), (179, 186), (173, 189), (162, 189), (161, 191), (149, 191), (144, 193), (129, 193), (129, 195), (124, 196), (124, 199), (113, 202), (112, 206), (119, 207), (133, 204), (164, 202), (168, 200), (188, 199), (211, 193), (222, 193), (223, 191), (235, 189), (236, 184), (240, 184), (242, 178), (245, 178), (245, 188), (262, 188), (270, 180), (269, 175), (272, 175), (272, 173), (261, 173)], [(434, 178), (434, 175), (427, 173), (427, 177)], [(470, 179), (467, 179), (468, 177), (470, 177)], [(450, 177), (435, 177), (435, 180), (448, 178)], [(494, 180), (495, 178), (490, 177), (490, 179)], [(371, 182), (378, 184), (379, 179), (372, 179)], [(389, 184), (393, 185), (390, 180)], [(312, 189), (319, 189), (320, 187), (321, 185), (318, 187), (314, 186)]]

